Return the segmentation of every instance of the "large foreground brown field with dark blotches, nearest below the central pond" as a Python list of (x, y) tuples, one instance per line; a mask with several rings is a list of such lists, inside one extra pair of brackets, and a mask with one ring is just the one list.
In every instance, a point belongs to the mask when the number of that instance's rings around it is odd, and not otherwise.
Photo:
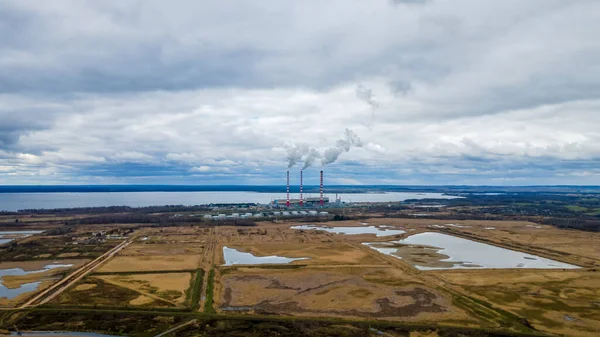
[(216, 291), (220, 312), (477, 323), (439, 291), (387, 266), (229, 268)]

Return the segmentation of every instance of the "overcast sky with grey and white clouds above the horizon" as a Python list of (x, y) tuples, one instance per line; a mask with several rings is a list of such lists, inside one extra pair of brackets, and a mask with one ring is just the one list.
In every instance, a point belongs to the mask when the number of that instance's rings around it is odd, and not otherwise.
[(600, 185), (597, 0), (0, 0), (0, 41), (2, 185)]

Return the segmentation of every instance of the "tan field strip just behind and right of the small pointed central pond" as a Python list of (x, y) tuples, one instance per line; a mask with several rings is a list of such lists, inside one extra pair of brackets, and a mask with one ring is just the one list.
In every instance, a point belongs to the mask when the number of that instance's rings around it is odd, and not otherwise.
[[(284, 256), (291, 258), (308, 257), (308, 260), (294, 261), (292, 264), (334, 264), (334, 265), (381, 265), (386, 264), (377, 255), (345, 242), (331, 243), (265, 243), (260, 245), (243, 246), (228, 245), (239, 251), (251, 253), (255, 256)], [(225, 261), (220, 260), (219, 264)]]

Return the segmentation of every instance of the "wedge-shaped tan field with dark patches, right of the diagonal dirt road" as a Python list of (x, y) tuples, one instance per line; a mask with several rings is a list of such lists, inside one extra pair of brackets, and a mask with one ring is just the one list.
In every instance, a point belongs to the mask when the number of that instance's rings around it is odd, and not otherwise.
[[(139, 292), (146, 298), (159, 297), (174, 305), (184, 304), (185, 292), (190, 287), (191, 273), (106, 275), (99, 279)], [(134, 300), (136, 301), (136, 300)], [(130, 302), (130, 304), (135, 304)]]

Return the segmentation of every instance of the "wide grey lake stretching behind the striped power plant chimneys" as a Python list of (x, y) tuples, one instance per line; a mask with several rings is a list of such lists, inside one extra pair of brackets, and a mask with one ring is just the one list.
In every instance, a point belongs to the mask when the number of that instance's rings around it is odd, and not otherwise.
[[(318, 197), (317, 194), (305, 194), (305, 197)], [(335, 200), (336, 194), (325, 194)], [(442, 193), (340, 193), (345, 202), (394, 202), (408, 199), (453, 199), (455, 196)], [(106, 206), (163, 206), (163, 205), (206, 205), (261, 203), (267, 204), (274, 199), (285, 199), (285, 193), (260, 192), (89, 192), (89, 193), (0, 193), (0, 211), (18, 211), (22, 209), (53, 209), (76, 207)], [(297, 198), (295, 194), (291, 198)]]

